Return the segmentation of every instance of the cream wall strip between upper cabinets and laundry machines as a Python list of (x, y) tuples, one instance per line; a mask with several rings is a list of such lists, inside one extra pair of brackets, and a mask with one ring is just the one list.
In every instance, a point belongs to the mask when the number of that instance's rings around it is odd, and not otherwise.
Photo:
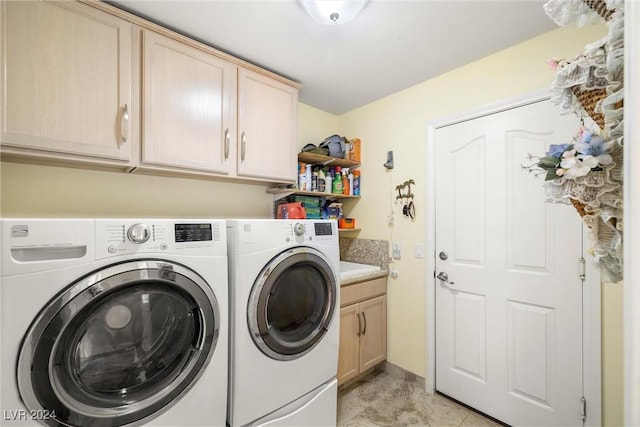
[(257, 217), (259, 185), (2, 162), (3, 217)]

